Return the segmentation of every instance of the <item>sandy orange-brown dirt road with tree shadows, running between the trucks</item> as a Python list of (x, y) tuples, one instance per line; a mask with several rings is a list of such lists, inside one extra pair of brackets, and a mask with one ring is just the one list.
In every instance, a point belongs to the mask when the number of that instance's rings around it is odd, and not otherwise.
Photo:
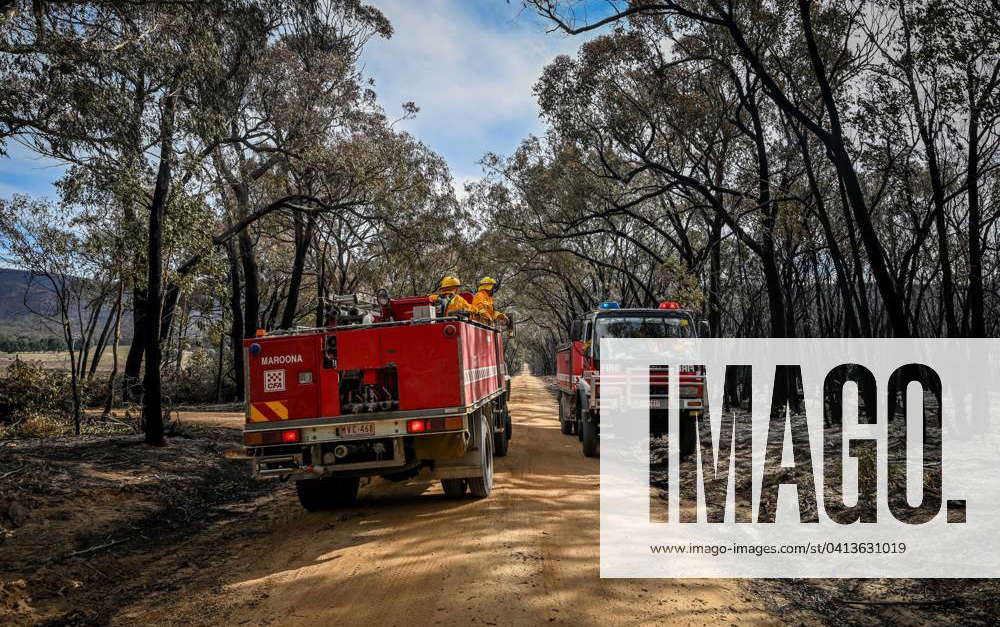
[[(348, 511), (306, 514), (286, 490), (221, 582), (197, 577), (119, 622), (280, 625), (773, 622), (730, 580), (602, 580), (598, 462), (560, 434), (552, 395), (513, 383), (514, 439), (489, 499), (418, 477), (376, 482)], [(235, 550), (234, 550), (235, 548)], [(227, 550), (220, 547), (220, 550)], [(204, 577), (205, 575), (202, 574)], [(213, 575), (215, 577), (215, 575)]]

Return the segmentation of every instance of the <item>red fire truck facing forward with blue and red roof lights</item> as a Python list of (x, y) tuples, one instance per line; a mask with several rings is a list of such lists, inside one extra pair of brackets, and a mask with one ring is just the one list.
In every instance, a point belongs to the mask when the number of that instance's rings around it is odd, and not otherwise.
[[(656, 309), (622, 309), (606, 301), (573, 321), (570, 342), (556, 351), (559, 386), (559, 426), (576, 434), (587, 457), (598, 455), (601, 428), (600, 345), (602, 338), (702, 337), (708, 324), (696, 323), (691, 311), (678, 303), (663, 302)], [(682, 455), (695, 447), (694, 421), (705, 409), (705, 374), (698, 366), (680, 373), (681, 416), (679, 443)], [(666, 367), (653, 366), (649, 374), (650, 429), (654, 436), (667, 432)]]

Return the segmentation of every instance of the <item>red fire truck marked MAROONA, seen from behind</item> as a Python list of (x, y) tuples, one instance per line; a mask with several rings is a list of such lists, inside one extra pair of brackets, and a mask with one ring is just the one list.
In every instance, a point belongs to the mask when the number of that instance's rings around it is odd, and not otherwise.
[(384, 290), (334, 297), (327, 325), (244, 342), (254, 474), (294, 480), (310, 511), (424, 468), (451, 497), (488, 496), (511, 436), (501, 331)]

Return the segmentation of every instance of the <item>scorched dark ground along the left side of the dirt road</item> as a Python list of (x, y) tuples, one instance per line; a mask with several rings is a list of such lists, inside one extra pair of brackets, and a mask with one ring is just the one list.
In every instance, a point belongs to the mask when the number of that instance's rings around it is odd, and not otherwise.
[(197, 425), (165, 448), (138, 435), (0, 442), (0, 623), (106, 624), (177, 594), (274, 492), (232, 459), (240, 445), (239, 431)]

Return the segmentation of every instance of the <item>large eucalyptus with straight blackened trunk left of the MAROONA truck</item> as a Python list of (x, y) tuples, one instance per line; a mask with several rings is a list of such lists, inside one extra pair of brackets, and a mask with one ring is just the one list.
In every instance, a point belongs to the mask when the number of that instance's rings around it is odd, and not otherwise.
[[(380, 13), (356, 0), (25, 2), (5, 14), (0, 141), (16, 138), (121, 190), (122, 220), (133, 241), (126, 261), (133, 269), (138, 338), (126, 373), (137, 376), (144, 353), (150, 443), (163, 443), (161, 298), (170, 270), (162, 257), (165, 218), (213, 155), (252, 141), (240, 135), (246, 129), (232, 104), (253, 84), (250, 77), (267, 69), (270, 57), (261, 51), (291, 31), (326, 38), (335, 48), (343, 40), (327, 36), (358, 21), (389, 28)], [(255, 212), (244, 219), (251, 216), (258, 217)]]

